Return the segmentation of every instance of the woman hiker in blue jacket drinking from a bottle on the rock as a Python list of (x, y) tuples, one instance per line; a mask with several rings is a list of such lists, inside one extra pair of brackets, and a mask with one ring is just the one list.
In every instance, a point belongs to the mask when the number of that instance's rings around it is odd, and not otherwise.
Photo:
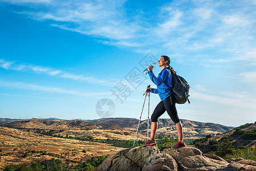
[(180, 119), (178, 119), (177, 110), (175, 107), (176, 99), (170, 91), (169, 87), (166, 86), (168, 84), (172, 87), (172, 74), (170, 72), (176, 72), (170, 67), (170, 58), (168, 56), (161, 56), (159, 59), (159, 67), (162, 68), (160, 74), (156, 76), (153, 74), (152, 66), (148, 66), (148, 75), (153, 83), (156, 84), (157, 88), (149, 87), (152, 93), (158, 93), (161, 99), (160, 103), (157, 104), (152, 116), (151, 116), (151, 137), (146, 141), (143, 146), (156, 144), (155, 135), (157, 129), (157, 119), (167, 111), (168, 115), (172, 119), (172, 121), (176, 124), (176, 129), (178, 132), (178, 142), (172, 146), (172, 149), (178, 149), (185, 147), (185, 143), (183, 141), (183, 131)]

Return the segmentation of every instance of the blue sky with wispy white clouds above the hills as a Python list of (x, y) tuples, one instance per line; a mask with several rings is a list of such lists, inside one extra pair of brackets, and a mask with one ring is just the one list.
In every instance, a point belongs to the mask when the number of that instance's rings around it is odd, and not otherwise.
[[(131, 74), (168, 55), (191, 87), (181, 119), (254, 123), (255, 9), (255, 0), (0, 0), (0, 117), (99, 119), (97, 102), (110, 99), (111, 117), (139, 119), (156, 86), (148, 75), (132, 85)], [(159, 101), (151, 94), (150, 113)]]

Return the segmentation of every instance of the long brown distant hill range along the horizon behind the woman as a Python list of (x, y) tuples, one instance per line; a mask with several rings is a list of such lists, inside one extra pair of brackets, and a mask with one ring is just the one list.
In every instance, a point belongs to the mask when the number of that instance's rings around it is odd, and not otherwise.
[[(0, 125), (8, 128), (51, 131), (63, 136), (92, 137), (94, 139), (132, 140), (135, 136), (139, 120), (134, 118), (103, 118), (97, 120), (62, 120), (62, 119), (0, 119)], [(139, 127), (139, 139), (147, 136), (147, 120)], [(181, 120), (184, 137), (197, 139), (206, 135), (217, 135), (233, 129), (220, 124), (201, 123), (198, 121)], [(171, 119), (159, 119), (157, 136), (177, 137), (176, 126)], [(149, 120), (150, 132), (151, 120)]]

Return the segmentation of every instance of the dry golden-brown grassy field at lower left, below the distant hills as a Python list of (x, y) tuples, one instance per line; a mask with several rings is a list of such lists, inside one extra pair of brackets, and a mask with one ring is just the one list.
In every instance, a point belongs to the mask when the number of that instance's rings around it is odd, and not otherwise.
[(65, 164), (75, 166), (120, 149), (123, 148), (0, 127), (0, 170), (6, 165), (30, 165), (52, 158), (60, 158)]

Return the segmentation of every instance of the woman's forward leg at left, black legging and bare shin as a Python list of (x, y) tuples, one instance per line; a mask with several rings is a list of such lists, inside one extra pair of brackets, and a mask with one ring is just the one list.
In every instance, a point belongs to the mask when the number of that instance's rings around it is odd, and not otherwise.
[(157, 104), (153, 114), (151, 115), (151, 136), (149, 140), (155, 139), (156, 135), (156, 129), (157, 129), (157, 119), (164, 114), (165, 112), (164, 102), (160, 101), (159, 104)]

